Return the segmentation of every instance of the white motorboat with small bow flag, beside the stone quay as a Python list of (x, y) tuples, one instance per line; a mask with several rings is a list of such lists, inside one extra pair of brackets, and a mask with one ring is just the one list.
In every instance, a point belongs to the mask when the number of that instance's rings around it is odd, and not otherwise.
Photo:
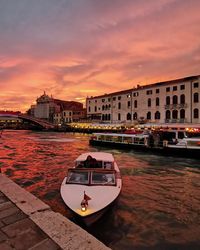
[(86, 225), (91, 225), (117, 199), (121, 188), (122, 179), (113, 155), (89, 152), (80, 155), (75, 167), (68, 169), (61, 196)]

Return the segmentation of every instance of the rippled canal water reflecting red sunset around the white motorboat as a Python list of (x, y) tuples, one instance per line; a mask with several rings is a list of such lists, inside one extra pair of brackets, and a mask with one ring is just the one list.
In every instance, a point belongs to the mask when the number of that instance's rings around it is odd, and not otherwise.
[(86, 230), (117, 250), (200, 249), (198, 160), (92, 147), (88, 139), (84, 134), (4, 131), (2, 172), (77, 223), (59, 192), (67, 168), (81, 153), (110, 152), (121, 170), (122, 192)]

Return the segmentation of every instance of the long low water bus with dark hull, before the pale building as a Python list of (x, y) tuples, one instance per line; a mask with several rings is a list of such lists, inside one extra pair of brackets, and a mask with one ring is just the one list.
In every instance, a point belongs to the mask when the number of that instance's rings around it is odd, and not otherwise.
[(200, 133), (184, 130), (154, 130), (142, 134), (94, 133), (89, 143), (200, 158)]

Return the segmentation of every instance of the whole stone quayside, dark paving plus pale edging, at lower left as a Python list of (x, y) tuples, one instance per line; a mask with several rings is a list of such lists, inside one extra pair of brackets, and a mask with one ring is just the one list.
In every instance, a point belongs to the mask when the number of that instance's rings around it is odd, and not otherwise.
[(109, 248), (0, 174), (0, 249)]

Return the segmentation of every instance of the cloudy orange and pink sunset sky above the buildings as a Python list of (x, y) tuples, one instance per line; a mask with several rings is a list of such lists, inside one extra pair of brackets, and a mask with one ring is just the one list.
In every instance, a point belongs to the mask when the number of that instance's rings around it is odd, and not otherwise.
[(0, 0), (0, 110), (200, 74), (199, 0)]

